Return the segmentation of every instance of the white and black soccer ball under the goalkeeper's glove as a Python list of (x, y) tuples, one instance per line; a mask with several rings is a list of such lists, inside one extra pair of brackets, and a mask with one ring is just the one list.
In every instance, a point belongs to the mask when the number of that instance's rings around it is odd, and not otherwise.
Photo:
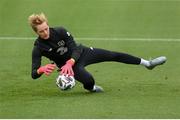
[(59, 75), (56, 78), (56, 85), (61, 90), (69, 90), (72, 89), (75, 86), (75, 79), (73, 76), (65, 76), (65, 75)]

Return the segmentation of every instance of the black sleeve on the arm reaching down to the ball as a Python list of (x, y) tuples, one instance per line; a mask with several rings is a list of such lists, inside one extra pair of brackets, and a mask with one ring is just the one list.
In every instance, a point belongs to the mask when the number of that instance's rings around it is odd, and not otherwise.
[(73, 58), (75, 61), (77, 61), (83, 51), (82, 45), (76, 44), (73, 36), (66, 29), (61, 28), (60, 34), (62, 36), (64, 36), (64, 39), (65, 39), (68, 49), (70, 49), (72, 51), (71, 58)]

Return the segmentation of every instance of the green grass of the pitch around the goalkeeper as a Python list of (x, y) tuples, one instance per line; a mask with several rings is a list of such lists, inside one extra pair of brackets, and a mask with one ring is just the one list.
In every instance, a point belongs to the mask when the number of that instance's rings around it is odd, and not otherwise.
[[(67, 27), (76, 38), (180, 38), (179, 6), (175, 0), (1, 0), (0, 37), (33, 37), (27, 17), (44, 12), (50, 25)], [(0, 40), (0, 118), (180, 118), (180, 42), (78, 40), (145, 59), (168, 58), (152, 71), (115, 62), (88, 66), (105, 89), (99, 94), (78, 82), (71, 91), (58, 90), (56, 72), (32, 80), (33, 42)]]

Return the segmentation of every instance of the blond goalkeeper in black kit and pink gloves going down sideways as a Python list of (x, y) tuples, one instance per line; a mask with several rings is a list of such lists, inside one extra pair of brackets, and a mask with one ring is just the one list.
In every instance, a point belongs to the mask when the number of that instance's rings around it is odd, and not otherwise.
[[(103, 88), (95, 85), (93, 76), (86, 71), (85, 66), (104, 61), (115, 61), (143, 65), (151, 70), (166, 62), (164, 56), (148, 61), (126, 53), (76, 44), (72, 35), (63, 27), (50, 28), (43, 13), (29, 16), (29, 23), (38, 35), (32, 50), (33, 79), (39, 78), (42, 74), (51, 74), (57, 66), (60, 74), (74, 76), (85, 89), (91, 92), (102, 92)], [(41, 66), (42, 56), (49, 58), (56, 65)]]

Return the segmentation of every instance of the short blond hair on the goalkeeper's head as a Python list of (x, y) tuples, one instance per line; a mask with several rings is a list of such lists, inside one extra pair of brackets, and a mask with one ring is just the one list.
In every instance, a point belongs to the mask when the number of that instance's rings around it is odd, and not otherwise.
[(35, 32), (37, 31), (37, 28), (36, 28), (37, 25), (41, 25), (44, 22), (48, 23), (48, 20), (46, 16), (44, 15), (44, 13), (32, 14), (29, 16), (28, 21)]

